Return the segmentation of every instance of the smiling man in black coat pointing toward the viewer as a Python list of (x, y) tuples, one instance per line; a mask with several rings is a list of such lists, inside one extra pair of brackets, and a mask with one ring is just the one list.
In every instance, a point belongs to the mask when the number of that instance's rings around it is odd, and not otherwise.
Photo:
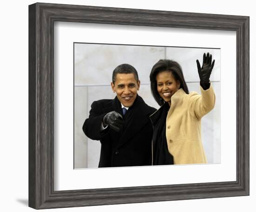
[(101, 141), (99, 167), (148, 166), (152, 163), (153, 126), (148, 106), (137, 94), (140, 80), (129, 64), (117, 66), (112, 74), (115, 99), (101, 99), (91, 105), (84, 133)]

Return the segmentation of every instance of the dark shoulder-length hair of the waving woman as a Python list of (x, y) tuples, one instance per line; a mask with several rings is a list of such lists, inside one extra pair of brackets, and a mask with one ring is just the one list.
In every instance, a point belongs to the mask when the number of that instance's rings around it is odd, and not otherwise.
[(181, 85), (180, 88), (184, 90), (185, 93), (189, 94), (188, 86), (184, 80), (182, 67), (174, 60), (159, 60), (153, 67), (150, 73), (150, 87), (151, 93), (158, 103), (158, 105), (162, 106), (164, 104), (164, 100), (161, 98), (157, 91), (157, 83), (156, 83), (156, 75), (160, 72), (169, 71), (173, 74), (175, 80), (179, 80)]

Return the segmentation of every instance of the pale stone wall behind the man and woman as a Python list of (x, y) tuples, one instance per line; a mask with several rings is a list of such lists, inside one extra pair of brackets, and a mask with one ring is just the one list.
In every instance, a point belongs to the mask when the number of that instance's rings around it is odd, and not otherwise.
[(184, 73), (189, 91), (200, 93), (196, 60), (202, 65), (203, 53), (216, 60), (211, 81), (216, 93), (215, 108), (202, 118), (202, 141), (209, 163), (220, 163), (220, 49), (74, 44), (74, 168), (98, 167), (100, 141), (91, 140), (82, 131), (94, 100), (113, 99), (112, 72), (128, 63), (136, 68), (141, 80), (138, 94), (145, 102), (159, 108), (150, 92), (149, 73), (159, 59), (177, 61)]

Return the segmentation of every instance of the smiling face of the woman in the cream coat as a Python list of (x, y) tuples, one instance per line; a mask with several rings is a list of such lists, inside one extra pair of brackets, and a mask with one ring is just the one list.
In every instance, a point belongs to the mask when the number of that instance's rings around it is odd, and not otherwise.
[(180, 88), (180, 81), (175, 80), (170, 71), (163, 71), (156, 75), (156, 83), (159, 95), (170, 105), (172, 95)]

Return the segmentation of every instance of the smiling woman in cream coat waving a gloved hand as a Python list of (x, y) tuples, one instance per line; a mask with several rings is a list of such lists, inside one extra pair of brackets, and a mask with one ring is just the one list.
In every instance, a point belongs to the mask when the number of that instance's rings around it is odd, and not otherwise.
[(201, 94), (189, 93), (181, 66), (173, 60), (159, 60), (150, 73), (151, 93), (161, 106), (150, 118), (154, 126), (153, 165), (207, 163), (201, 141), (201, 118), (215, 105), (209, 77), (215, 60), (203, 54), (198, 60)]

